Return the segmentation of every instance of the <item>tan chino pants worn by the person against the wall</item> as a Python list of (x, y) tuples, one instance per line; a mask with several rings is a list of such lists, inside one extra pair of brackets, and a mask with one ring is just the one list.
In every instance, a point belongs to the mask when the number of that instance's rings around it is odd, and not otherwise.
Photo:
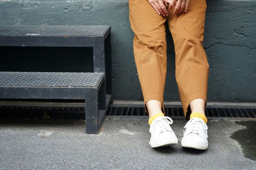
[[(134, 32), (134, 60), (143, 93), (145, 111), (147, 101), (161, 102), (164, 111), (166, 80), (166, 30), (168, 20), (175, 48), (175, 78), (185, 117), (191, 113), (189, 103), (204, 99), (207, 103), (209, 63), (202, 46), (204, 39), (206, 0), (190, 0), (188, 11), (169, 16), (158, 15), (148, 0), (129, 0), (129, 21)], [(170, 43), (170, 42), (168, 42)]]

